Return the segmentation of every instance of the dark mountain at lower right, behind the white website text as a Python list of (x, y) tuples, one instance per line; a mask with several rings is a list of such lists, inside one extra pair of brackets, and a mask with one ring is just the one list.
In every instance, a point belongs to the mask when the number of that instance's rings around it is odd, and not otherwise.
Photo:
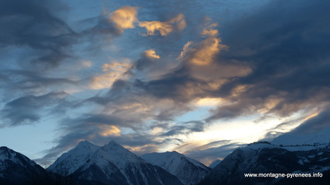
[[(285, 178), (244, 177), (244, 174), (291, 174), (322, 172), (322, 179), (295, 180), (300, 183), (329, 183), (330, 146), (309, 151), (289, 151), (270, 143), (254, 143), (238, 148), (211, 172), (199, 184), (292, 184)], [(327, 182), (326, 182), (327, 181)]]

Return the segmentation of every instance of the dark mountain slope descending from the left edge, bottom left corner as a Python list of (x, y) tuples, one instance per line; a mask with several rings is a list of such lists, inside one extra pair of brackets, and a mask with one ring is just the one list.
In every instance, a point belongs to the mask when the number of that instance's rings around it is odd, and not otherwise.
[(0, 184), (72, 184), (47, 172), (25, 155), (0, 147)]

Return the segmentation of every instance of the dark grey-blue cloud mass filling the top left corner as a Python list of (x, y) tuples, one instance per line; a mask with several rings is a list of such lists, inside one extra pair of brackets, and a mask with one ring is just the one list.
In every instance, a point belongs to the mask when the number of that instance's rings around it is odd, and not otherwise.
[(47, 5), (48, 1), (1, 1), (0, 47), (27, 45), (39, 55), (31, 61), (47, 68), (70, 57), (66, 49), (75, 42), (75, 33)]

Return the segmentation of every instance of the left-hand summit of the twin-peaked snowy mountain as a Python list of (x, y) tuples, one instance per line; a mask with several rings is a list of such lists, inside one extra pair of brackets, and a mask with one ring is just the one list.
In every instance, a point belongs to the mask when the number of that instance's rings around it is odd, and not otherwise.
[(100, 146), (93, 145), (88, 141), (81, 141), (78, 145), (59, 157), (47, 170), (61, 175), (69, 175), (79, 167), (86, 164)]

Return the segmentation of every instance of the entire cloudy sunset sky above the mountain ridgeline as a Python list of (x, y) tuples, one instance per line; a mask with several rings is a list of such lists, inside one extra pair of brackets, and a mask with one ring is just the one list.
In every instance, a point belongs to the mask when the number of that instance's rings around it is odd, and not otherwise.
[(330, 2), (0, 1), (0, 145), (80, 141), (209, 165), (330, 126)]

